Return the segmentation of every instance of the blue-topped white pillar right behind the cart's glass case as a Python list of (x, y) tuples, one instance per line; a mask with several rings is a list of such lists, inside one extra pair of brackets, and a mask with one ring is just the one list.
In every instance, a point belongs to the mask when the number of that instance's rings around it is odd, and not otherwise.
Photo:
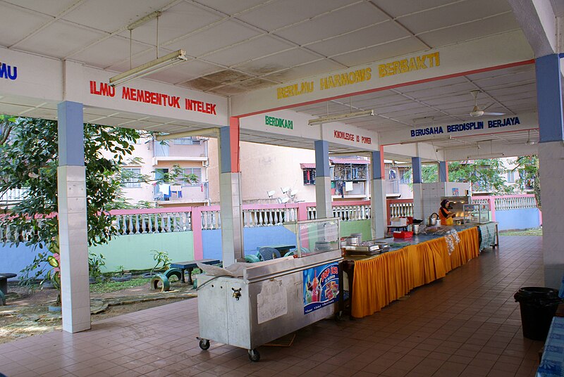
[(324, 140), (315, 141), (315, 203), (317, 219), (333, 217), (329, 143)]

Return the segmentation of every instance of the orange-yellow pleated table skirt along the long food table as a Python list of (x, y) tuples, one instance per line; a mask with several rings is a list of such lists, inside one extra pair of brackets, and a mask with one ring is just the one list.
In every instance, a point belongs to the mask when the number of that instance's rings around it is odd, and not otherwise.
[(378, 312), (413, 288), (441, 279), (448, 271), (477, 257), (478, 229), (460, 231), (458, 236), (460, 243), (450, 255), (446, 239), (441, 237), (368, 260), (357, 260), (353, 279), (353, 317)]

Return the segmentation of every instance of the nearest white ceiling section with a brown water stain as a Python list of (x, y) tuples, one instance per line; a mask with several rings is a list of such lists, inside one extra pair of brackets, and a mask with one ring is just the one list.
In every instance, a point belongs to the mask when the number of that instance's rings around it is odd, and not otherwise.
[[(519, 28), (505, 0), (1, 0), (0, 45), (123, 72), (154, 11), (190, 61), (151, 78), (225, 96)], [(131, 34), (152, 60), (157, 19)]]

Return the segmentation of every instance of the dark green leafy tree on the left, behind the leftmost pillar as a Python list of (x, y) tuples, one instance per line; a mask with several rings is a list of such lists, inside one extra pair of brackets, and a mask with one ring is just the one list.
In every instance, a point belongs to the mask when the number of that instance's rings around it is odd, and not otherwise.
[[(56, 240), (58, 133), (57, 122), (23, 117), (1, 117), (0, 129), (10, 129), (9, 139), (0, 145), (0, 193), (25, 189), (23, 200), (0, 217), (0, 226), (9, 226), (24, 238), (16, 243), (42, 248)], [(88, 244), (106, 243), (116, 234), (108, 210), (121, 193), (120, 171), (133, 151), (139, 134), (133, 129), (85, 124), (85, 167)], [(110, 157), (104, 157), (103, 151)], [(10, 240), (8, 240), (10, 241)]]

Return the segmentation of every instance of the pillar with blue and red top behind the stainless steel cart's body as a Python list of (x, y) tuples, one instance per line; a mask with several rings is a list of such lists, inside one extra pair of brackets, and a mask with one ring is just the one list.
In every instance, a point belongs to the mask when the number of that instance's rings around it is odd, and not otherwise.
[(221, 245), (223, 267), (227, 267), (245, 257), (238, 118), (231, 118), (229, 126), (219, 130), (219, 162)]

